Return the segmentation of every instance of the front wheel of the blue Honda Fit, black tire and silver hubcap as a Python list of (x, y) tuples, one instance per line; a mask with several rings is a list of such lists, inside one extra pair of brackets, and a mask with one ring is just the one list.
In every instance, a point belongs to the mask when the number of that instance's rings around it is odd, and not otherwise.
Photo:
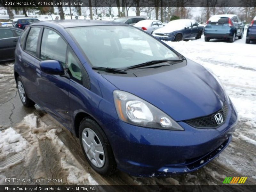
[(88, 117), (82, 120), (79, 126), (79, 140), (84, 156), (92, 169), (102, 175), (111, 175), (115, 172), (116, 161), (112, 148), (106, 134), (96, 121)]

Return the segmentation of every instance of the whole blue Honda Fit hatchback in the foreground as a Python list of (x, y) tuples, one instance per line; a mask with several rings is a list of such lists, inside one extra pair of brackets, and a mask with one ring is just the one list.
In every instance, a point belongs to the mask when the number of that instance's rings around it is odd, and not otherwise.
[(100, 174), (195, 171), (235, 130), (237, 113), (218, 77), (122, 23), (33, 23), (17, 44), (14, 76), (23, 105), (38, 104), (76, 135)]

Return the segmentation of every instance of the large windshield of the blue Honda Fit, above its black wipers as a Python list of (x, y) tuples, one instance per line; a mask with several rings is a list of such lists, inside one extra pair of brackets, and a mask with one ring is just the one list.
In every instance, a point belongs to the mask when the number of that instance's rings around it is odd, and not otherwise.
[(152, 60), (180, 58), (140, 29), (131, 26), (67, 28), (92, 66), (127, 68)]

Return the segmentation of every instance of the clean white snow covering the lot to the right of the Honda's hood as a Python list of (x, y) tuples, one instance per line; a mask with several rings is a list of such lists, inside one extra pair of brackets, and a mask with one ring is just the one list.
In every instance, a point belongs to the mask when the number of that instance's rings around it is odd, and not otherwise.
[(217, 75), (239, 117), (256, 123), (255, 44), (245, 44), (245, 38), (236, 39), (235, 43), (204, 42), (204, 36), (194, 41), (166, 43)]

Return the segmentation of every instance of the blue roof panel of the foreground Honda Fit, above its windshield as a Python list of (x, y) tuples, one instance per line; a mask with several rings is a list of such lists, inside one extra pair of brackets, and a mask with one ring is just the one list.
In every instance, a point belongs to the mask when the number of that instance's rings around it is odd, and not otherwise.
[(58, 25), (63, 28), (70, 27), (84, 27), (84, 26), (99, 26), (99, 25), (127, 25), (124, 23), (113, 22), (113, 21), (103, 21), (103, 20), (51, 20), (51, 21), (36, 21), (32, 25)]

